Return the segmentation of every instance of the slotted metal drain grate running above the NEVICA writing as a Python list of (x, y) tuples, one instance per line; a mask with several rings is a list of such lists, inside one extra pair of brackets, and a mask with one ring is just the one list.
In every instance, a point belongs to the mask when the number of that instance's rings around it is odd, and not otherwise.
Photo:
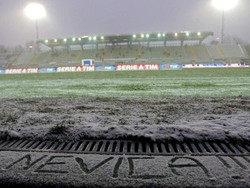
[(140, 142), (127, 140), (83, 140), (52, 142), (0, 141), (0, 151), (46, 151), (85, 154), (183, 155), (183, 154), (249, 154), (250, 145), (227, 142)]

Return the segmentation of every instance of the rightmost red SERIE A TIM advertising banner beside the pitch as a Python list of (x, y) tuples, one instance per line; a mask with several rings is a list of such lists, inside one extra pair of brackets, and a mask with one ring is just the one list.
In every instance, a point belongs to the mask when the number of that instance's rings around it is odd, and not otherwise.
[(160, 64), (120, 64), (117, 71), (160, 70)]

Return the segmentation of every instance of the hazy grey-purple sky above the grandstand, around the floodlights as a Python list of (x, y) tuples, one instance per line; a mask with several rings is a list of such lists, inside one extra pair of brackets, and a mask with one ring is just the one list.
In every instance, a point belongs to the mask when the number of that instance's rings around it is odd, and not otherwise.
[[(29, 0), (0, 0), (0, 45), (35, 40), (35, 22), (24, 15)], [(222, 12), (210, 0), (40, 0), (47, 17), (40, 39), (150, 32), (213, 31), (220, 37)], [(225, 13), (226, 37), (250, 42), (250, 0)]]

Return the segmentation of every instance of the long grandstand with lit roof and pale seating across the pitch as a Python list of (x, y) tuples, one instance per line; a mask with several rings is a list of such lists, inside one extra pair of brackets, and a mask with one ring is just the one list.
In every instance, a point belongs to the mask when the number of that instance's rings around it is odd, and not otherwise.
[(98, 65), (138, 63), (246, 63), (250, 47), (240, 44), (204, 44), (213, 32), (137, 33), (82, 36), (37, 41), (50, 50), (0, 52), (0, 68), (81, 65), (92, 59)]

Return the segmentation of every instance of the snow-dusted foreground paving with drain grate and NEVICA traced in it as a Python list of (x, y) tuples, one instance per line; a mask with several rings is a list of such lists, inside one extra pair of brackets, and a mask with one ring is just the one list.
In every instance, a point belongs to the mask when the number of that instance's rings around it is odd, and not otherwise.
[(249, 172), (249, 144), (0, 141), (1, 187), (250, 187)]

